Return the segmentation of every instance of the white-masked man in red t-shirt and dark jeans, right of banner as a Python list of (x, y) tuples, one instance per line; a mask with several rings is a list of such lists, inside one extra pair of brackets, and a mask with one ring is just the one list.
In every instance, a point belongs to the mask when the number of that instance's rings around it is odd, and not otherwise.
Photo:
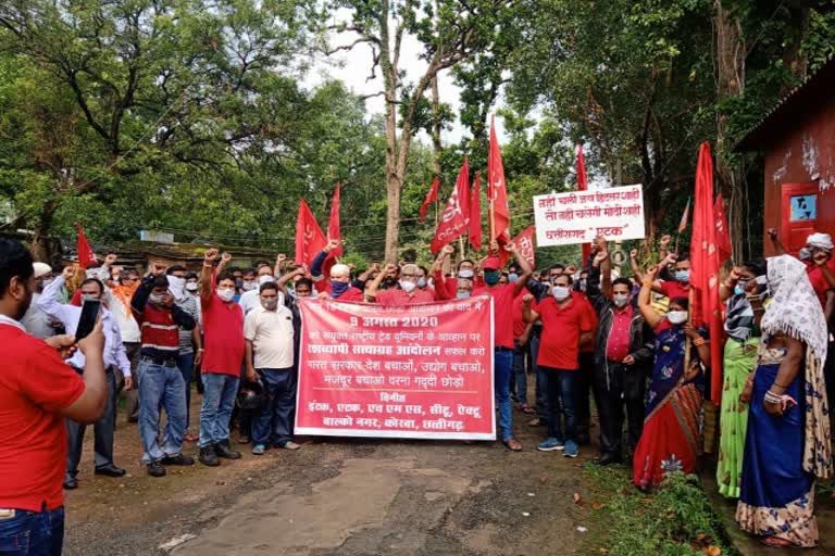
[[(581, 302), (571, 295), (571, 276), (557, 277), (552, 296), (531, 308), (533, 295), (522, 298), (525, 321), (543, 323), (537, 364), (548, 375), (546, 381), (546, 407), (548, 438), (537, 450), (549, 452), (564, 450), (565, 456), (577, 457), (576, 381), (579, 349), (593, 341), (595, 323)], [(560, 427), (560, 400), (565, 414), (565, 430)]]

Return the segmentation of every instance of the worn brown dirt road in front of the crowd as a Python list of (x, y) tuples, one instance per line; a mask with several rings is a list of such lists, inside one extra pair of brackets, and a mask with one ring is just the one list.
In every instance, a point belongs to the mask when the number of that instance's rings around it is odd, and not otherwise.
[(515, 454), (491, 442), (306, 438), (298, 452), (246, 450), (154, 479), (136, 425), (120, 415), (116, 464), (128, 475), (94, 476), (87, 442), (79, 489), (66, 493), (64, 554), (579, 554), (578, 527), (595, 516), (573, 496), (596, 451), (537, 452), (544, 429), (529, 418), (514, 412), (525, 447)]

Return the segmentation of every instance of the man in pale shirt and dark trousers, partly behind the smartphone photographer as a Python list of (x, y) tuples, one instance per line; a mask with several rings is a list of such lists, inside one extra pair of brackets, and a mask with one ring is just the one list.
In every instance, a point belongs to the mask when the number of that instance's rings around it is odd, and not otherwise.
[[(75, 275), (75, 268), (67, 266), (61, 276), (52, 280), (52, 283), (43, 289), (43, 293), (38, 298), (38, 306), (55, 320), (61, 321), (64, 330), (68, 334), (75, 334), (78, 320), (82, 316), (83, 307), (59, 303), (58, 294), (66, 280)], [(119, 323), (114, 315), (104, 307), (104, 285), (98, 278), (87, 278), (82, 282), (82, 302), (101, 303), (101, 327), (104, 332), (104, 369), (108, 381), (108, 406), (101, 419), (94, 427), (95, 451), (96, 451), (96, 475), (104, 477), (122, 477), (125, 470), (116, 467), (113, 463), (113, 433), (116, 428), (116, 378), (114, 369), (119, 369), (125, 378), (125, 389), (129, 390), (133, 384), (130, 375), (130, 361), (127, 358), (125, 346), (122, 343), (122, 333)], [(80, 375), (84, 368), (84, 354), (76, 352), (66, 362), (76, 372)], [(67, 420), (67, 445), (68, 454), (66, 458), (66, 476), (64, 478), (65, 489), (78, 488), (78, 462), (82, 459), (82, 446), (84, 444), (84, 433), (87, 426), (84, 424)]]

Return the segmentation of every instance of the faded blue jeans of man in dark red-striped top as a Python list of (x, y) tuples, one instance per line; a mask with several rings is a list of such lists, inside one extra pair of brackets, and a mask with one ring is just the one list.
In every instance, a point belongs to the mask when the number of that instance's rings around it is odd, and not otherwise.
[[(159, 462), (165, 456), (183, 452), (186, 432), (186, 396), (183, 375), (174, 365), (157, 365), (147, 359), (139, 362), (139, 438), (142, 440), (142, 463)], [(160, 407), (165, 409), (167, 422), (158, 442)]]

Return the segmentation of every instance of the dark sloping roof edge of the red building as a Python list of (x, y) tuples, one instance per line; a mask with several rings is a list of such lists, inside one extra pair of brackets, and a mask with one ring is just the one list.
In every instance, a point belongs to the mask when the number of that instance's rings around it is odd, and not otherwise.
[(788, 91), (765, 115), (736, 143), (734, 151), (756, 151), (777, 137), (774, 131), (788, 123), (798, 123), (813, 111), (814, 103), (835, 96), (835, 54), (803, 81)]

